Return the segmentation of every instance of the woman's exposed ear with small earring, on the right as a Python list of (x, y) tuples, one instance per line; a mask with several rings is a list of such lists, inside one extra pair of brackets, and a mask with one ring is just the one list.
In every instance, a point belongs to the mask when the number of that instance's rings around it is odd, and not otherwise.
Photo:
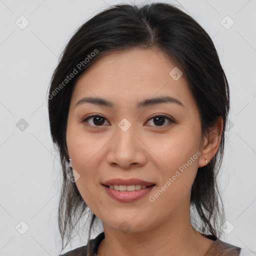
[(203, 146), (201, 149), (200, 159), (198, 161), (198, 167), (203, 167), (209, 162), (210, 159), (215, 155), (218, 150), (218, 146), (221, 139), (221, 133), (223, 129), (223, 119), (221, 116), (218, 117), (214, 126), (209, 131), (207, 137), (204, 137)]

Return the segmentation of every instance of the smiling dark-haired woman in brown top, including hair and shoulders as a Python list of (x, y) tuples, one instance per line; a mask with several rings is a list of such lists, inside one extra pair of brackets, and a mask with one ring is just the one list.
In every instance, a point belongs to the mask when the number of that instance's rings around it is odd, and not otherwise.
[(64, 255), (239, 255), (219, 239), (229, 88), (192, 17), (152, 3), (90, 18), (52, 75), (48, 111), (62, 249), (88, 208), (89, 234), (95, 219), (104, 229)]

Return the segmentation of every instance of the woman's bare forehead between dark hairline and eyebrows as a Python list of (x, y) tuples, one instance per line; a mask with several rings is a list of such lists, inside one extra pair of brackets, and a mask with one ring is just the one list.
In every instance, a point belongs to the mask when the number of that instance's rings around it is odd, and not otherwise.
[[(168, 95), (179, 98), (185, 107), (194, 105), (185, 78), (170, 75), (176, 64), (161, 50), (118, 50), (101, 56), (78, 78), (73, 100), (98, 96), (116, 102)], [(172, 73), (171, 73), (172, 74)]]

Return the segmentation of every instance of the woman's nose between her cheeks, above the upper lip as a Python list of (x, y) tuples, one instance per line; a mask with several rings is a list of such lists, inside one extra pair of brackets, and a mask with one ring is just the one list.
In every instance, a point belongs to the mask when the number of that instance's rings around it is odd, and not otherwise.
[(146, 163), (146, 146), (141, 140), (135, 125), (123, 131), (116, 126), (116, 134), (108, 143), (108, 164), (129, 169)]

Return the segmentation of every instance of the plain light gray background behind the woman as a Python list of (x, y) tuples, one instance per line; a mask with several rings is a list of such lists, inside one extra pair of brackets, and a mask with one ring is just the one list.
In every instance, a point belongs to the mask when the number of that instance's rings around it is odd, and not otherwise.
[[(74, 30), (120, 2), (130, 1), (0, 0), (0, 255), (59, 252), (61, 177), (46, 91)], [(209, 33), (227, 75), (231, 110), (219, 182), (228, 222), (221, 239), (255, 252), (256, 0), (167, 2), (181, 5)], [(86, 238), (86, 228), (80, 228), (65, 251)]]

